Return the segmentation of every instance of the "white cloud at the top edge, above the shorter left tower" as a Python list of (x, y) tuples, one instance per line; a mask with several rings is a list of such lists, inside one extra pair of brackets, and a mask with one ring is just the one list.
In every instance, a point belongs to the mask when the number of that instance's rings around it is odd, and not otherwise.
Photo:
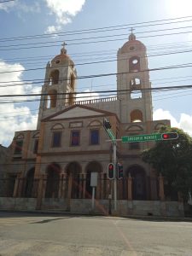
[(56, 16), (57, 26), (49, 26), (47, 31), (61, 30), (61, 25), (72, 21), (72, 18), (82, 10), (85, 0), (44, 0), (51, 13)]

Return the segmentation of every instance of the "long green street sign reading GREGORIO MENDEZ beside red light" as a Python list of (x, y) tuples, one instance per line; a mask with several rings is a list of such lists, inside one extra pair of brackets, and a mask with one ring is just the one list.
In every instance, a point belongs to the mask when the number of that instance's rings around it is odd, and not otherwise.
[(140, 142), (160, 141), (160, 140), (162, 140), (161, 133), (152, 133), (152, 134), (142, 134), (142, 135), (121, 137), (122, 143), (140, 143)]

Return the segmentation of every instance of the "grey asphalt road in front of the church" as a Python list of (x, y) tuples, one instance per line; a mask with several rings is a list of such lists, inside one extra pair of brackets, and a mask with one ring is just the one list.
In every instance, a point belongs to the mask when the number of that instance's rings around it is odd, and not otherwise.
[(192, 255), (192, 222), (0, 212), (0, 256)]

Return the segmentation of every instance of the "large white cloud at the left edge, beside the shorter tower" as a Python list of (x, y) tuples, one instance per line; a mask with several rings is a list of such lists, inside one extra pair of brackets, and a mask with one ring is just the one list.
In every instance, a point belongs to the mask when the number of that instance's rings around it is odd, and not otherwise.
[[(6, 71), (20, 70), (20, 72), (3, 73)], [(20, 63), (8, 64), (0, 60), (0, 95), (27, 94), (27, 92), (39, 92), (32, 84), (24, 84), (22, 73), (25, 68)], [(14, 83), (11, 81), (15, 81)], [(14, 86), (10, 86), (13, 85)], [(16, 84), (20, 84), (17, 86)], [(27, 98), (27, 97), (26, 97)], [(19, 98), (14, 98), (18, 100)], [(23, 100), (24, 98), (20, 98)], [(0, 103), (0, 144), (8, 146), (14, 137), (15, 131), (36, 129), (37, 115), (32, 115), (28, 107), (14, 104), (12, 97), (1, 98)], [(4, 103), (3, 102), (10, 102)]]

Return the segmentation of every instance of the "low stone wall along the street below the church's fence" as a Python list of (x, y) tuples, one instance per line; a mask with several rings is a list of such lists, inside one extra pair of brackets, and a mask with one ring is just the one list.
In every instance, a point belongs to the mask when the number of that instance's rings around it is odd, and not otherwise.
[[(35, 211), (36, 198), (10, 198), (0, 197), (0, 210), (13, 211)], [(95, 201), (95, 208), (92, 211), (90, 199), (72, 199), (67, 207), (66, 199), (43, 199), (41, 210), (53, 210), (73, 213), (99, 213), (108, 215), (109, 201)], [(160, 217), (183, 217), (183, 203), (177, 201), (117, 201), (117, 212), (113, 212), (113, 201), (111, 204), (112, 213), (119, 216), (160, 216)]]

